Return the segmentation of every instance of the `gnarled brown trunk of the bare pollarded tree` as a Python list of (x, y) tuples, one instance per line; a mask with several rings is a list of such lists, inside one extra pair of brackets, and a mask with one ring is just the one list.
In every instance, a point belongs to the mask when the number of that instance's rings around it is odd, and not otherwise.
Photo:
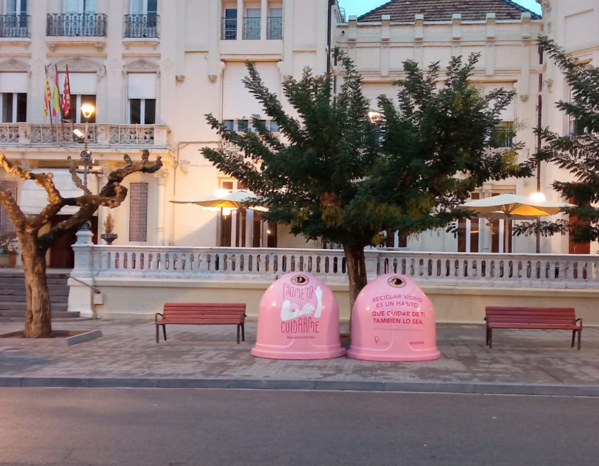
[(38, 249), (34, 237), (23, 235), (20, 240), (27, 293), (23, 337), (52, 338), (50, 292), (46, 281), (46, 250)]

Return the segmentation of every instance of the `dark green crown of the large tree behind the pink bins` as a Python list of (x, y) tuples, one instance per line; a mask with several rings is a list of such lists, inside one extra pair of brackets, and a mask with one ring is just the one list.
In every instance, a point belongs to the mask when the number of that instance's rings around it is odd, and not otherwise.
[(205, 147), (202, 153), (268, 204), (265, 219), (313, 240), (367, 246), (386, 230), (407, 236), (444, 227), (463, 215), (453, 208), (483, 181), (530, 175), (513, 149), (488, 147), (513, 92), (483, 95), (468, 83), (477, 55), (465, 63), (453, 58), (441, 86), (438, 63), (422, 72), (416, 62), (404, 62), (395, 102), (378, 99), (378, 124), (368, 119), (373, 104), (352, 61), (340, 52), (335, 59), (344, 71), (336, 93), (331, 75), (314, 76), (310, 69), (283, 83), (289, 112), (247, 63), (244, 85), (279, 125), (281, 139), (257, 116), (256, 130), (245, 133), (206, 116), (239, 150)]

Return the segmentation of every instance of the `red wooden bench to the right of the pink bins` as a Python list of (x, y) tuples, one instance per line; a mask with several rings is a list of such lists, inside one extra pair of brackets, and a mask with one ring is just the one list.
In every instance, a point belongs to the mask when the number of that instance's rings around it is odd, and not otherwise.
[(505, 307), (485, 308), (486, 344), (493, 347), (494, 328), (534, 328), (572, 331), (572, 347), (578, 332), (578, 349), (582, 319), (576, 319), (573, 307)]

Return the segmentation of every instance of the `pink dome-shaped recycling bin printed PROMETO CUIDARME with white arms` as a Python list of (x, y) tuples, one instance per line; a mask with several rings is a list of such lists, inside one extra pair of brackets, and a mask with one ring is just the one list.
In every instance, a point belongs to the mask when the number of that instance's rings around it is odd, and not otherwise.
[(282, 276), (262, 295), (252, 355), (271, 359), (343, 356), (339, 307), (331, 289), (304, 272)]

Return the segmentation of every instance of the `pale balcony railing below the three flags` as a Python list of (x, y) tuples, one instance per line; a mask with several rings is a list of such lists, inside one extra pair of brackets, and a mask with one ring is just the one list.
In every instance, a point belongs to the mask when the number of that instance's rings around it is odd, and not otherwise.
[[(77, 146), (74, 129), (84, 131), (85, 125), (71, 123), (0, 123), (0, 144), (10, 146)], [(92, 123), (87, 128), (87, 141), (101, 147), (167, 147), (168, 126), (165, 125), (111, 125)]]

